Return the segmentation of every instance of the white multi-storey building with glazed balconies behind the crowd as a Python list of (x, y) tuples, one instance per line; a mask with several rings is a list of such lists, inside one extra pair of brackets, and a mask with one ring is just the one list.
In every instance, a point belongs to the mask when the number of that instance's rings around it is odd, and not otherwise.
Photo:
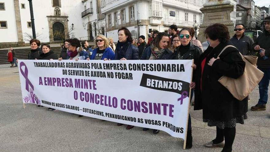
[(107, 37), (118, 39), (118, 29), (126, 27), (133, 36), (150, 34), (151, 30), (167, 32), (172, 24), (179, 29), (201, 23), (200, 8), (204, 0), (101, 0), (106, 15)]

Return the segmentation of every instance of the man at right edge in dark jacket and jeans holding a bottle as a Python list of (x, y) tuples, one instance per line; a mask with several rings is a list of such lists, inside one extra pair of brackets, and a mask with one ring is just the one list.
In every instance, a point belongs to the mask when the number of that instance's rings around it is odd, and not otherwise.
[(266, 110), (265, 104), (268, 100), (268, 85), (270, 80), (270, 17), (264, 18), (265, 30), (259, 35), (253, 47), (258, 51), (258, 69), (264, 72), (264, 76), (259, 83), (260, 99), (258, 104), (251, 107), (253, 111)]

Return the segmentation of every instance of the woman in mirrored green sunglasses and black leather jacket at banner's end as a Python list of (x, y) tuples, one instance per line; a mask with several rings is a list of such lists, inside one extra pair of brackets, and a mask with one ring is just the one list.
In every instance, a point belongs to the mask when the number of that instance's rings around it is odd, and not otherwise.
[[(191, 43), (191, 34), (188, 28), (183, 28), (180, 30), (180, 42), (181, 45), (174, 51), (174, 59), (175, 60), (192, 60), (194, 59), (194, 64), (196, 64), (199, 60), (199, 56), (201, 54), (200, 48), (193, 45)], [(190, 84), (191, 88), (191, 99), (193, 96), (194, 88), (195, 88), (195, 70), (193, 71), (193, 78)], [(191, 100), (190, 99), (190, 100)], [(187, 125), (187, 144), (186, 148), (190, 149), (192, 147), (192, 131), (191, 131), (191, 117), (188, 115), (188, 125)]]

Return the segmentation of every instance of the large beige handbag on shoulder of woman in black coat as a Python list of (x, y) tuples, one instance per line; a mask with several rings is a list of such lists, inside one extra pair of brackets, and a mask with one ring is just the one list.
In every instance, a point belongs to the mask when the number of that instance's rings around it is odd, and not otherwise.
[[(224, 49), (222, 49), (221, 53), (228, 47), (234, 46), (227, 45)], [(221, 53), (219, 53), (219, 55)], [(222, 76), (218, 79), (218, 82), (226, 87), (234, 98), (240, 101), (245, 99), (245, 97), (247, 97), (252, 92), (252, 90), (259, 84), (260, 80), (264, 76), (264, 73), (256, 67), (258, 57), (243, 56), (242, 54), (241, 56), (246, 63), (243, 75), (237, 79), (227, 76)]]

